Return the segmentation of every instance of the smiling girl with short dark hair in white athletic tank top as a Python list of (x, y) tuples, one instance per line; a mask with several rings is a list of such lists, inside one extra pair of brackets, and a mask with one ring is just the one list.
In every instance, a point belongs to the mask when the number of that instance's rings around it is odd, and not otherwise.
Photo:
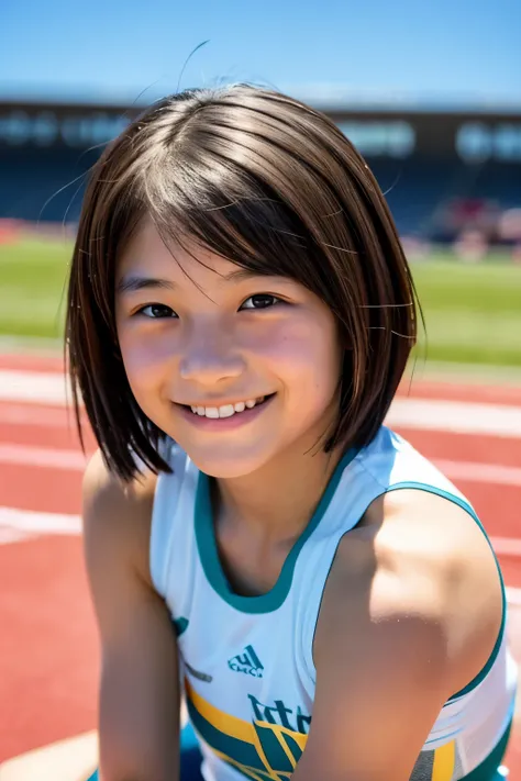
[(464, 497), (384, 419), (415, 339), (374, 177), (248, 86), (153, 105), (92, 174), (68, 356), (102, 781), (491, 779), (506, 598)]

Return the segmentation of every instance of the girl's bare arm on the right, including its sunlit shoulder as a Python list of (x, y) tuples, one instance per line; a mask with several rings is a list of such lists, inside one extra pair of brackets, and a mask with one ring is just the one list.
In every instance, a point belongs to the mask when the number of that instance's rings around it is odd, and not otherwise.
[[(412, 527), (406, 512), (390, 532), (342, 540), (318, 622), (313, 718), (296, 781), (407, 781), (441, 709), (486, 662), (500, 585), (488, 543), (463, 512), (447, 507), (432, 526), (414, 517)], [(432, 532), (425, 550), (421, 535)]]

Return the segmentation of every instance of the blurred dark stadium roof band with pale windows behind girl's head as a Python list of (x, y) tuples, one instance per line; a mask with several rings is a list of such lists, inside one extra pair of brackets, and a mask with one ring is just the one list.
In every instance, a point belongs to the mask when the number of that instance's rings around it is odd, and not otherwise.
[[(457, 158), (467, 163), (491, 159), (521, 165), (521, 101), (484, 96), (470, 101), (454, 93), (437, 97), (389, 91), (385, 94), (331, 85), (307, 85), (284, 91), (322, 110), (368, 158)], [(31, 97), (2, 94), (0, 83), (0, 148), (9, 154), (33, 147), (99, 149), (125, 130), (147, 105), (164, 97), (157, 85), (138, 94), (114, 96), (109, 90), (75, 89), (68, 94), (48, 90)], [(8, 154), (8, 153), (5, 153)]]

